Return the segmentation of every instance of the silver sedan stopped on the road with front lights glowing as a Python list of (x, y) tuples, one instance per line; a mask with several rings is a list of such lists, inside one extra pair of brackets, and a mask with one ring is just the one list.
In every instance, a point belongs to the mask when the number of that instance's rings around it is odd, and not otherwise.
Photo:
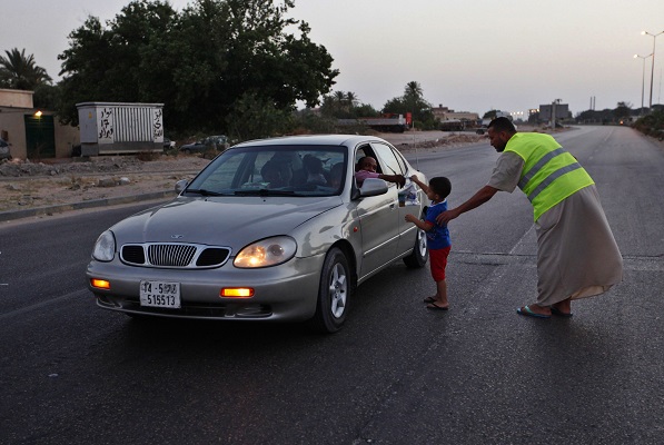
[[(87, 268), (97, 304), (130, 316), (305, 322), (341, 327), (357, 285), (403, 259), (423, 267), (426, 195), (383, 179), (355, 181), (359, 158), (378, 172), (415, 170), (387, 141), (301, 136), (231, 147), (179, 196), (100, 235)], [(412, 191), (413, 189), (410, 189)], [(399, 194), (402, 192), (402, 194)]]

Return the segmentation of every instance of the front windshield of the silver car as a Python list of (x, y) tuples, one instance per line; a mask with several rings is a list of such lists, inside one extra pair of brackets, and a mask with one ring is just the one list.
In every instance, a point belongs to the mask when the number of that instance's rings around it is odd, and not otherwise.
[(236, 147), (206, 167), (185, 192), (201, 196), (333, 196), (343, 190), (347, 166), (346, 147)]

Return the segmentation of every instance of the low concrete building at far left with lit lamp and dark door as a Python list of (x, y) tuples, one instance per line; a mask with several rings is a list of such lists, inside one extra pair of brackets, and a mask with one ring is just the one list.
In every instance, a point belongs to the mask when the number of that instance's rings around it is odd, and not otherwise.
[(32, 91), (0, 89), (0, 137), (13, 158), (68, 158), (79, 145), (77, 127), (58, 122), (53, 111), (33, 107)]

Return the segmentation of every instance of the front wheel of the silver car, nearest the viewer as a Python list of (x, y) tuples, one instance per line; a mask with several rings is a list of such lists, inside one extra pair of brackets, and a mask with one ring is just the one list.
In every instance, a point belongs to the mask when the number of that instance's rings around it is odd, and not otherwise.
[(341, 250), (334, 247), (323, 264), (318, 304), (310, 320), (315, 330), (331, 334), (341, 328), (348, 313), (349, 281), (348, 260)]

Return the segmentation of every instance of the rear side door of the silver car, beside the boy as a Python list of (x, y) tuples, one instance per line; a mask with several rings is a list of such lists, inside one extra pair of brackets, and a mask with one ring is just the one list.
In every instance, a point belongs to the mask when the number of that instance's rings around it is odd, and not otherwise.
[[(371, 142), (371, 148), (376, 152), (376, 156), (380, 159), (380, 164), (383, 166), (383, 172), (385, 175), (403, 175), (406, 178), (409, 174), (407, 162), (404, 158), (396, 152), (396, 149), (386, 145), (386, 144), (377, 144)], [(419, 206), (404, 206), (399, 207), (398, 205), (398, 191), (404, 191), (403, 189), (398, 188), (397, 185), (392, 185), (394, 190), (397, 192), (397, 207), (395, 214), (397, 214), (396, 220), (396, 230), (398, 233), (398, 243), (397, 248), (394, 253), (395, 256), (402, 256), (402, 254), (407, 253), (413, 249), (415, 245), (415, 237), (417, 233), (417, 227), (413, 222), (406, 221), (406, 215), (413, 214), (415, 216), (419, 216)]]

